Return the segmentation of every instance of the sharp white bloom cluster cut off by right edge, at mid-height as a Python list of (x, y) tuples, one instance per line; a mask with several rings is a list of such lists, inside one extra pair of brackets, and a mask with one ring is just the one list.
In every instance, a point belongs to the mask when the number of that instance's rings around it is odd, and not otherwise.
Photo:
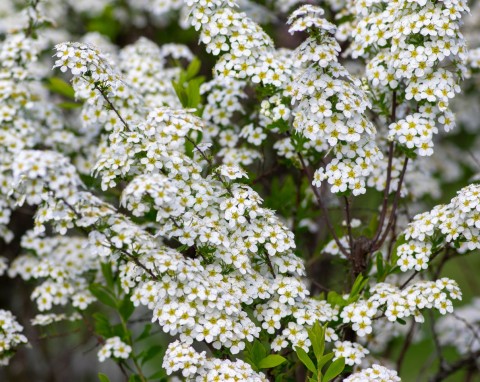
[(450, 203), (416, 215), (404, 234), (408, 242), (397, 249), (404, 272), (426, 269), (432, 254), (444, 247), (459, 252), (480, 248), (480, 186), (467, 186)]

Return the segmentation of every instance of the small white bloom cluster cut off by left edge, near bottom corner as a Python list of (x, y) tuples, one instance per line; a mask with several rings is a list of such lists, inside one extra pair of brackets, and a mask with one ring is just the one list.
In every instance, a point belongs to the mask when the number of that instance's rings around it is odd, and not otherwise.
[(8, 365), (18, 346), (28, 342), (22, 330), (11, 312), (0, 309), (0, 365)]

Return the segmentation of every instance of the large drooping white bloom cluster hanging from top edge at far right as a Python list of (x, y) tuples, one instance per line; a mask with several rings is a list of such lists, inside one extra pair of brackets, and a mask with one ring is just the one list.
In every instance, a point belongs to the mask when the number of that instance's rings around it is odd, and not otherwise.
[(376, 106), (388, 115), (392, 103), (408, 105), (397, 110), (400, 119), (389, 127), (390, 139), (431, 155), (436, 123), (447, 131), (454, 125), (448, 106), (466, 70), (460, 26), (467, 3), (369, 0), (350, 1), (345, 9), (354, 21), (342, 24), (338, 36), (351, 32), (352, 56), (369, 60), (366, 76)]

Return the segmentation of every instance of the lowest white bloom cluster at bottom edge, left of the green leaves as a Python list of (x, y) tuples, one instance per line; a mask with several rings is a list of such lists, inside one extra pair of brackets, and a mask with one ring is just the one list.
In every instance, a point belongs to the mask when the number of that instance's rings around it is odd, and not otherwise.
[(168, 375), (181, 371), (186, 381), (268, 381), (263, 373), (255, 372), (252, 367), (241, 361), (207, 358), (205, 352), (198, 353), (193, 347), (172, 342), (163, 358), (163, 367)]

